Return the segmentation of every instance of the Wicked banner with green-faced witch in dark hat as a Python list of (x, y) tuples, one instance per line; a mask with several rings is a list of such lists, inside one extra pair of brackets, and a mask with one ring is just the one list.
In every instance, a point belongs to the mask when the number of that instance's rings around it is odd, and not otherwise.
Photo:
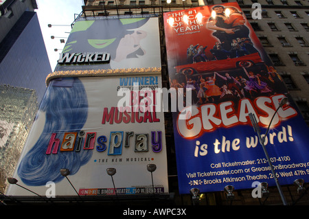
[(82, 17), (73, 25), (55, 71), (161, 67), (158, 18)]

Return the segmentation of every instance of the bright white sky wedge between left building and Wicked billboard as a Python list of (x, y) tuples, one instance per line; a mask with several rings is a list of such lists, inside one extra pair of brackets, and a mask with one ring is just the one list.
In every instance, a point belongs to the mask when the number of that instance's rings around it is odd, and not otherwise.
[[(36, 0), (38, 9), (38, 21), (41, 26), (47, 55), (49, 62), (54, 71), (59, 54), (61, 53), (65, 43), (60, 43), (60, 39), (67, 42), (69, 32), (71, 32), (71, 23), (74, 18), (82, 12), (83, 0)], [(74, 15), (76, 14), (76, 15)], [(52, 24), (52, 27), (48, 27)], [(52, 39), (51, 36), (55, 38)], [(58, 49), (58, 51), (54, 51)]]

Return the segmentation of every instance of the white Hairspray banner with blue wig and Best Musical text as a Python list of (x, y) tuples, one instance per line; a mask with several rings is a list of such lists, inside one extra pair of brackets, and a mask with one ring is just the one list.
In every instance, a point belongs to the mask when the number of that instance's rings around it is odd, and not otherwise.
[[(155, 192), (168, 192), (163, 113), (117, 107), (126, 97), (117, 95), (123, 81), (141, 78), (157, 81), (148, 87), (161, 86), (160, 75), (52, 80), (13, 177), (43, 196), (47, 182), (55, 183), (56, 195), (76, 195), (60, 174), (65, 168), (80, 195), (111, 195), (115, 190), (106, 169), (115, 168), (117, 194), (148, 194), (147, 165), (155, 164)], [(143, 95), (138, 89), (130, 94), (133, 100)], [(16, 185), (8, 194), (33, 195)]]

